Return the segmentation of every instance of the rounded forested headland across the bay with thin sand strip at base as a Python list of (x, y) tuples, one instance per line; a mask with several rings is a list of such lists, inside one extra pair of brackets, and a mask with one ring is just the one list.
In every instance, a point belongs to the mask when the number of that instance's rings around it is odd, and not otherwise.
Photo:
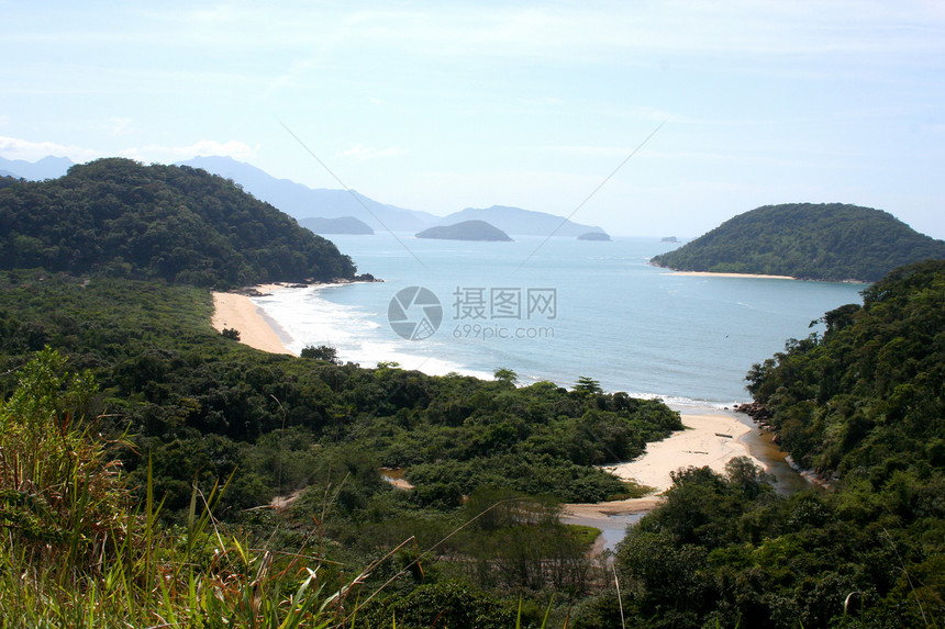
[(902, 265), (945, 258), (945, 243), (881, 210), (842, 203), (765, 205), (651, 260), (680, 271), (875, 282)]

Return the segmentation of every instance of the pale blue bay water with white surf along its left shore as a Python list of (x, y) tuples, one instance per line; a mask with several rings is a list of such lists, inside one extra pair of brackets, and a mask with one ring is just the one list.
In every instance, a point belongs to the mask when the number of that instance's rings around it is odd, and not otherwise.
[[(607, 391), (721, 407), (749, 401), (744, 378), (753, 363), (782, 350), (788, 338), (822, 332), (809, 328), (811, 321), (859, 303), (864, 288), (672, 274), (647, 265), (677, 246), (654, 238), (553, 237), (542, 245), (537, 236), (398, 237), (402, 244), (390, 234), (330, 237), (358, 272), (383, 283), (285, 290), (253, 301), (296, 352), (330, 345), (363, 367), (396, 361), (435, 374), (491, 378), (508, 368), (522, 384), (571, 386), (583, 375)], [(403, 339), (388, 323), (391, 299), (408, 287), (429, 289), (442, 304), (443, 321), (429, 338)]]

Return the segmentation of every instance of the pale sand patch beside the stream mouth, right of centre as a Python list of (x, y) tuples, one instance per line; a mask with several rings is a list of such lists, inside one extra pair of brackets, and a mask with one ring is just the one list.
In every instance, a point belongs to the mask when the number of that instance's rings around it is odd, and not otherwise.
[(736, 457), (749, 457), (756, 464), (764, 467), (740, 440), (751, 428), (734, 417), (721, 414), (682, 415), (682, 425), (686, 430), (649, 443), (642, 457), (605, 468), (621, 479), (653, 487), (653, 495), (610, 503), (567, 504), (563, 520), (571, 524), (590, 524), (590, 520), (607, 524), (611, 516), (653, 510), (662, 499), (658, 494), (672, 484), (669, 473), (679, 468), (709, 465), (716, 472), (724, 472), (725, 463)]

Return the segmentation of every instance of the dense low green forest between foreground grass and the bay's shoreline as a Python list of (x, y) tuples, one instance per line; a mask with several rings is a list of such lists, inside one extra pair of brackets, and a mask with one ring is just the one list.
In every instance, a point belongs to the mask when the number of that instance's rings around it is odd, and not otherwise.
[[(145, 517), (151, 525), (134, 526), (154, 530), (156, 518), (177, 549), (203, 496), (213, 495), (220, 532), (203, 559), (238, 557), (240, 548), (298, 554), (335, 589), (409, 540), (358, 580), (373, 593), (403, 571), (365, 620), (396, 614), (402, 627), (414, 626), (410, 610), (426, 606), (411, 597), (426, 597), (457, 614), (490, 600), (503, 619), (496, 626), (509, 626), (516, 602), (487, 593), (541, 598), (552, 586), (567, 600), (589, 592), (600, 580), (587, 557), (593, 536), (558, 524), (560, 504), (631, 495), (635, 487), (591, 465), (634, 457), (681, 426), (662, 403), (603, 394), (590, 379), (571, 391), (516, 387), (508, 370), (479, 381), (259, 352), (209, 327), (202, 289), (18, 271), (0, 274), (0, 292), (4, 398), (22, 390), (24, 366), (44, 347), (68, 357), (46, 368), (55, 382), (70, 371), (97, 383), (81, 403), (94, 422), (75, 425), (121, 463), (125, 502), (115, 521), (132, 527), (138, 520), (129, 514), (160, 503), (157, 516)], [(415, 488), (392, 487), (382, 467), (405, 468)], [(214, 493), (224, 482), (226, 491)], [(269, 507), (277, 496), (294, 501)], [(173, 565), (175, 558), (168, 551)], [(294, 592), (298, 583), (270, 585)], [(523, 618), (538, 609), (529, 603)]]

